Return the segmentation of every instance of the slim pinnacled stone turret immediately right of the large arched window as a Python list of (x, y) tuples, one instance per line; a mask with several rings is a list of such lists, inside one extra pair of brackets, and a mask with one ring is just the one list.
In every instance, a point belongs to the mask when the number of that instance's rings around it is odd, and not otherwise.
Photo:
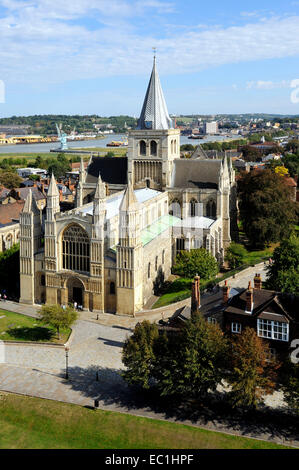
[(90, 251), (90, 275), (93, 291), (93, 309), (104, 311), (104, 244), (106, 220), (106, 185), (99, 175), (93, 200), (93, 223)]

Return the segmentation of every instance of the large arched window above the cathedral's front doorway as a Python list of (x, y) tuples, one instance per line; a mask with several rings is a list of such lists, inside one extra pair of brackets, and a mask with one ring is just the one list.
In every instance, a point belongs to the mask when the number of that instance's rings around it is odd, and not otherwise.
[(62, 235), (62, 267), (71, 271), (89, 272), (89, 237), (73, 224)]

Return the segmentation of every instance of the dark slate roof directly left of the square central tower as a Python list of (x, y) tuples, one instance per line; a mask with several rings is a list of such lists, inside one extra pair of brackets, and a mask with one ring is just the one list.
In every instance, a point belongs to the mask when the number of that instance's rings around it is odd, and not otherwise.
[(87, 168), (86, 183), (97, 184), (99, 173), (105, 183), (127, 184), (127, 157), (92, 157)]

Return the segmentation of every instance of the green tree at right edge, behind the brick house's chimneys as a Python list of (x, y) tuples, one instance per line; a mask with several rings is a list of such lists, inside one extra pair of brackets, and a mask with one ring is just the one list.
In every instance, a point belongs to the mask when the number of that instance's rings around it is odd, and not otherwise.
[(299, 294), (299, 238), (292, 235), (273, 252), (273, 263), (267, 267), (266, 288)]

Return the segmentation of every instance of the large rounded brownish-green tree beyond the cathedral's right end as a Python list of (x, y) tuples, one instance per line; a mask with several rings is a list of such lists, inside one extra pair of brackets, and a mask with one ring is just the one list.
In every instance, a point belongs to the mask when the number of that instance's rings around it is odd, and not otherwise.
[(263, 248), (288, 238), (295, 221), (295, 204), (284, 178), (271, 170), (253, 171), (239, 181), (239, 209), (252, 246)]

